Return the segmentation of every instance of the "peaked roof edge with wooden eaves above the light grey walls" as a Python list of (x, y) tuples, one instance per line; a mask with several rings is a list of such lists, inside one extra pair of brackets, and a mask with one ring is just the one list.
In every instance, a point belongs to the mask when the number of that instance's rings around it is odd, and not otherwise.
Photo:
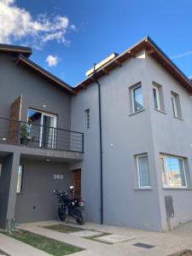
[[(145, 49), (147, 51), (148, 55), (151, 55), (154, 57), (156, 61), (159, 61), (160, 64), (166, 68), (166, 70), (172, 74), (172, 76), (177, 79), (181, 84), (183, 84), (183, 87), (192, 93), (192, 82), (191, 80), (170, 60), (170, 58), (154, 43), (154, 41), (149, 38), (143, 38), (140, 42), (137, 44), (134, 44), (131, 48), (125, 50), (120, 55), (117, 55), (113, 60), (109, 61), (104, 66), (98, 68), (95, 72), (95, 78), (100, 79), (102, 76), (110, 73), (114, 68), (120, 67), (122, 63), (131, 57), (135, 57), (135, 55), (141, 51), (142, 49)], [(82, 90), (86, 88), (88, 85), (93, 83), (95, 79), (92, 75), (90, 75), (88, 78), (84, 79), (81, 83), (77, 84), (75, 87), (75, 91), (78, 92), (79, 90)]]

